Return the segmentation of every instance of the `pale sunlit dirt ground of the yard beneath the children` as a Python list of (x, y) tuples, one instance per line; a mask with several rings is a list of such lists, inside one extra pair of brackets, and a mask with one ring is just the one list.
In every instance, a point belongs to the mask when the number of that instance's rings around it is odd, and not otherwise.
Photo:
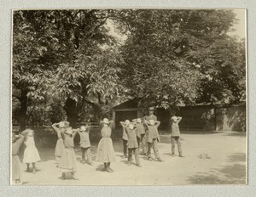
[[(160, 135), (160, 155), (164, 162), (148, 161), (140, 155), (143, 167), (127, 165), (122, 159), (122, 143), (113, 142), (116, 161), (111, 164), (114, 172), (102, 172), (102, 163), (93, 166), (82, 164), (79, 147), (75, 149), (78, 160), (79, 180), (61, 180), (61, 172), (55, 165), (55, 149), (38, 149), (41, 161), (37, 163), (36, 174), (25, 172), (21, 164), (23, 185), (191, 185), (191, 184), (245, 184), (246, 136), (240, 132), (188, 132), (182, 134), (182, 148), (185, 157), (171, 155), (169, 134)], [(96, 145), (92, 144), (93, 160), (96, 159)], [(200, 158), (207, 154), (211, 159)], [(154, 154), (153, 154), (154, 155)], [(20, 158), (22, 159), (22, 158)]]

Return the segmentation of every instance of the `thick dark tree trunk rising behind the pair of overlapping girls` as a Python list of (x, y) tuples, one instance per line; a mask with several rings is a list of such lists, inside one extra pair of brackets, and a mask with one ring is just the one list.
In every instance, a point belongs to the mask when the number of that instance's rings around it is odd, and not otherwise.
[(78, 111), (76, 101), (72, 98), (67, 98), (64, 110), (67, 113), (67, 121), (69, 122), (70, 126), (76, 128), (78, 123)]

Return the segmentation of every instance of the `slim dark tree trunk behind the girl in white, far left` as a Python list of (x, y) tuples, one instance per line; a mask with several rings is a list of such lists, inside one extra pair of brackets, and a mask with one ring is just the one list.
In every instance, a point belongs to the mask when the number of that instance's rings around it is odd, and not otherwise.
[(20, 95), (20, 131), (26, 129), (27, 91), (21, 90)]

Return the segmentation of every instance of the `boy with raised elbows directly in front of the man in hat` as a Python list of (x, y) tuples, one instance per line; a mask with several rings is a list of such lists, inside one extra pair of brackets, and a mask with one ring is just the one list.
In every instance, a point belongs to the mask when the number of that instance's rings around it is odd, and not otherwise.
[(155, 159), (162, 161), (160, 158), (159, 150), (157, 147), (157, 142), (160, 142), (160, 136), (158, 132), (158, 127), (160, 126), (160, 121), (149, 120), (145, 121), (145, 125), (148, 128), (148, 160), (152, 161), (151, 158), (151, 148), (154, 150)]

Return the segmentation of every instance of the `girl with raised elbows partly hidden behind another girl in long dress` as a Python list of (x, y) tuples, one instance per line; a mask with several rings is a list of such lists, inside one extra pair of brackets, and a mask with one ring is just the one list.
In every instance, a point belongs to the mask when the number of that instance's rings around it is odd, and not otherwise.
[(61, 121), (59, 123), (54, 123), (51, 127), (55, 130), (58, 136), (58, 140), (55, 146), (55, 162), (59, 165), (61, 160), (62, 149), (64, 149), (63, 139), (61, 138), (61, 131), (64, 132), (65, 129), (69, 126), (68, 121)]

